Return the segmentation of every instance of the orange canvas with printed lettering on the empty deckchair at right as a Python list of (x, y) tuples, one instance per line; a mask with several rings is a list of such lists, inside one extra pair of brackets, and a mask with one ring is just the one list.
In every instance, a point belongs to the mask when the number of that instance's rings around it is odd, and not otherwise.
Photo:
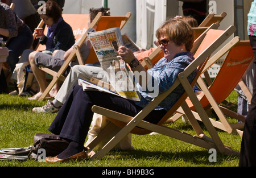
[[(249, 41), (240, 41), (230, 49), (221, 65), (220, 71), (214, 78), (212, 85), (209, 86), (209, 91), (218, 104), (224, 101), (236, 87), (253, 60), (253, 56), (253, 49), (251, 49)], [(210, 107), (205, 96), (199, 97), (201, 97), (200, 102), (203, 107)]]

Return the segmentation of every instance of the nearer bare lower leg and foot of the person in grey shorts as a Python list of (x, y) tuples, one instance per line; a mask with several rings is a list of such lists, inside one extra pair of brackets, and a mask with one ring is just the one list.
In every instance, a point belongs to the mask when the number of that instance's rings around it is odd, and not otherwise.
[(31, 52), (28, 61), (31, 65), (31, 70), (34, 73), (34, 76), (36, 80), (38, 81), (40, 90), (38, 93), (36, 93), (33, 97), (28, 98), (28, 100), (38, 100), (40, 96), (43, 94), (44, 90), (47, 88), (47, 82), (46, 82), (46, 73), (43, 72), (38, 68), (38, 66), (35, 64), (35, 54), (37, 51)]

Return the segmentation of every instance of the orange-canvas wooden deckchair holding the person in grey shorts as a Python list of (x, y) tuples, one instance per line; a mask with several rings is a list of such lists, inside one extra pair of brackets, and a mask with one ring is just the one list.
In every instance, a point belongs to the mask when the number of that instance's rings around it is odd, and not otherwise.
[[(90, 26), (88, 28), (94, 28), (97, 26), (96, 31), (106, 30), (108, 28), (113, 27), (119, 27), (120, 29), (125, 26), (127, 20), (129, 20), (131, 16), (131, 13), (127, 13), (125, 16), (102, 16), (102, 13), (98, 13), (96, 18), (94, 18), (93, 22), (90, 23)], [(87, 34), (85, 33), (82, 35), (81, 40), (77, 45), (75, 45), (74, 50), (72, 53), (68, 56), (68, 59), (65, 61), (63, 66), (60, 68), (58, 72), (52, 71), (51, 69), (45, 68), (42, 65), (39, 66), (40, 69), (42, 69), (44, 72), (51, 74), (53, 76), (52, 81), (47, 86), (46, 90), (42, 94), (42, 96), (39, 98), (39, 100), (43, 100), (46, 98), (47, 94), (51, 91), (52, 87), (56, 84), (58, 80), (64, 81), (65, 77), (63, 76), (63, 73), (65, 69), (67, 69), (69, 63), (74, 59), (74, 57), (77, 57), (77, 60), (79, 61), (80, 65), (84, 65), (84, 62), (81, 57), (80, 53), (80, 47), (82, 44), (84, 44), (85, 40), (87, 39)], [(98, 58), (96, 56), (96, 53), (94, 52), (93, 48), (91, 48), (88, 59), (86, 60), (86, 64), (93, 64), (98, 61)]]

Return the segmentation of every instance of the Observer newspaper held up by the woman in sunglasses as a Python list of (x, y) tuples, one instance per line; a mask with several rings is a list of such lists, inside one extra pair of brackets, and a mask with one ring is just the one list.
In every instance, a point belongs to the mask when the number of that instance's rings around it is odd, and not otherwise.
[[(117, 58), (119, 46), (124, 45), (120, 29), (110, 28), (104, 31), (93, 32), (88, 35), (88, 38), (93, 46), (98, 60), (100, 61), (102, 69), (106, 72), (106, 74), (108, 74), (108, 81), (109, 84), (114, 88), (114, 93), (116, 92), (116, 94), (119, 96), (129, 100), (140, 101), (141, 96), (134, 83), (133, 72), (131, 72), (127, 67), (125, 61)], [(139, 49), (134, 45), (130, 38), (125, 37), (125, 41), (127, 46), (133, 47), (133, 50)], [(84, 81), (80, 80), (80, 84), (82, 83), (84, 83)], [(86, 87), (95, 88), (93, 84), (89, 86), (88, 84), (90, 83), (92, 84), (93, 81), (86, 81)], [(108, 90), (110, 93), (113, 92), (113, 90), (110, 90), (109, 88)]]

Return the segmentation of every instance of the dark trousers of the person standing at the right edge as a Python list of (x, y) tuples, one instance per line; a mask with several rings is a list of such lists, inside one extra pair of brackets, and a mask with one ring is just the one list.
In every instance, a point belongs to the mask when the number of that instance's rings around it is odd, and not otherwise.
[[(256, 55), (256, 36), (249, 36)], [(256, 63), (254, 56), (254, 63)], [(254, 69), (253, 97), (243, 129), (239, 166), (256, 166), (256, 69)]]

